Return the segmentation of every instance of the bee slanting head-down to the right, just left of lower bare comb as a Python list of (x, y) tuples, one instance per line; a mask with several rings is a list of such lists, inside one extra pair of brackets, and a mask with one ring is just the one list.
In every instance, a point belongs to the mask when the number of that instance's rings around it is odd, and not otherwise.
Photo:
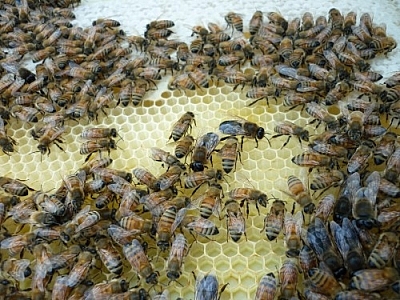
[(124, 245), (122, 251), (134, 272), (141, 278), (145, 278), (146, 283), (157, 284), (158, 274), (153, 271), (153, 267), (138, 240), (134, 239), (132, 243)]

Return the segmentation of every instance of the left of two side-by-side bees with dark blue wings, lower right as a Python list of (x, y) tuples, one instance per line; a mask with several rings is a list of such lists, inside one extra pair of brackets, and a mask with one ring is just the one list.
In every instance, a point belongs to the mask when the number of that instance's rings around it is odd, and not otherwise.
[(314, 218), (307, 229), (307, 242), (320, 261), (326, 263), (335, 277), (346, 272), (343, 260), (336, 252), (328, 231), (320, 218)]

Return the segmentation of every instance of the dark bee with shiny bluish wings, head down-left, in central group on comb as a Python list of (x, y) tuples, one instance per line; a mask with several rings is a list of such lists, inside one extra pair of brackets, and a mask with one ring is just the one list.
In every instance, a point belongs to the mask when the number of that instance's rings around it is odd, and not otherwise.
[(203, 171), (208, 160), (212, 162), (212, 152), (219, 143), (219, 136), (214, 132), (208, 132), (200, 136), (193, 149), (190, 168), (195, 171)]

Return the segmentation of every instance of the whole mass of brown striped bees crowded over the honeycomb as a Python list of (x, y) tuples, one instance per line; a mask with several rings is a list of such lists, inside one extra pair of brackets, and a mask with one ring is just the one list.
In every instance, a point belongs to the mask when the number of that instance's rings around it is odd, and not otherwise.
[[(244, 139), (258, 147), (269, 135), (262, 124), (239, 117), (222, 121), (218, 133), (194, 138), (189, 132), (196, 112), (184, 113), (169, 136), (176, 143), (174, 153), (150, 149), (151, 158), (166, 167), (158, 176), (141, 166), (116, 170), (111, 158), (96, 156), (117, 148), (115, 128), (84, 130), (80, 153), (87, 155), (85, 164), (65, 176), (55, 192), (0, 177), (1, 296), (150, 299), (151, 289), (154, 294), (162, 289), (162, 276), (165, 284), (179, 284), (188, 238), (219, 234), (213, 218), (225, 218), (230, 238), (239, 242), (247, 238), (249, 206), (260, 213), (271, 203), (263, 231), (270, 241), (283, 231), (288, 259), (277, 276), (271, 272), (261, 279), (256, 299), (396, 297), (400, 147), (381, 119), (390, 119), (389, 126), (400, 119), (400, 78), (395, 74), (379, 84), (381, 74), (368, 63), (396, 48), (386, 28), (367, 13), (357, 24), (354, 12), (342, 15), (337, 9), (328, 18), (305, 13), (289, 21), (277, 12), (257, 11), (246, 37), (242, 16), (230, 12), (228, 29), (214, 23), (194, 26), (193, 41), (186, 44), (169, 39), (170, 20), (150, 22), (143, 36), (127, 36), (111, 19), (74, 27), (69, 8), (74, 4), (1, 4), (0, 146), (5, 154), (17, 146), (6, 128), (14, 120), (37, 123), (30, 134), (42, 155), (53, 144), (64, 151), (65, 124), (96, 121), (115, 105), (137, 106), (170, 73), (171, 90), (203, 90), (211, 81), (223, 81), (233, 90), (246, 89), (249, 105), (263, 99), (269, 105), (270, 98), (278, 102), (282, 96), (289, 110), (304, 110), (316, 127), (325, 126), (324, 133), (312, 135), (282, 121), (268, 143), (280, 136), (287, 136), (282, 147), (292, 137), (300, 145), (308, 142), (306, 152), (292, 162), (309, 169), (313, 180), (308, 187), (288, 177), (286, 194), (301, 207), (297, 213), (272, 193), (269, 198), (255, 188), (224, 191), (226, 174), (241, 161)], [(34, 72), (23, 66), (26, 59), (36, 63)], [(248, 64), (251, 68), (243, 70)], [(339, 107), (338, 117), (328, 112), (332, 105)], [(213, 163), (215, 155), (221, 168)], [(316, 201), (309, 190), (323, 197)], [(157, 259), (165, 259), (164, 269), (153, 267)], [(107, 282), (92, 281), (104, 279), (99, 269)], [(139, 283), (133, 287), (136, 277)], [(24, 289), (26, 281), (30, 285)], [(229, 289), (226, 284), (219, 288), (217, 278), (207, 274), (196, 280), (194, 297), (217, 299)], [(153, 299), (168, 299), (167, 292)]]

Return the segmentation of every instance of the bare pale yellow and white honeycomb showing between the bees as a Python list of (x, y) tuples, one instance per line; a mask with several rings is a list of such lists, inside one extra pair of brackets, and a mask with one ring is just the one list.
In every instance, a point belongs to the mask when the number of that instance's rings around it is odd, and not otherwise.
[[(285, 7), (288, 9), (293, 4), (291, 13), (294, 14), (293, 11), (299, 4), (295, 1), (290, 2), (286, 1)], [(111, 1), (83, 2), (76, 9), (78, 17), (76, 23), (87, 26), (88, 21), (91, 22), (97, 17), (103, 17), (104, 14), (121, 16), (123, 6), (118, 8), (118, 12), (115, 11), (115, 7), (107, 10), (112, 5), (110, 3)], [(227, 5), (226, 3), (223, 4)], [(308, 4), (315, 5), (311, 1)], [(390, 1), (387, 4), (388, 6), (391, 5)], [(175, 5), (174, 3), (174, 7)], [(249, 8), (246, 3), (242, 8), (246, 17), (253, 13), (255, 5), (252, 4), (251, 6), (252, 8)], [(339, 4), (336, 4), (336, 6), (339, 6)], [(360, 4), (359, 9), (373, 10), (370, 7), (364, 9), (364, 6)], [(310, 10), (311, 7), (312, 5)], [(221, 12), (225, 12), (227, 7), (222, 9), (218, 6), (218, 8)], [(344, 5), (340, 9), (349, 10), (348, 8), (349, 6)], [(138, 10), (140, 11), (140, 9)], [(142, 10), (145, 11), (144, 8)], [(234, 7), (232, 7), (232, 10), (234, 10)], [(317, 9), (316, 14), (320, 10)], [(388, 10), (390, 11), (390, 8)], [(88, 11), (91, 11), (90, 18), (86, 16), (83, 19), (83, 14)], [(378, 12), (378, 10), (375, 11)], [(152, 15), (156, 13), (158, 12), (153, 12)], [(285, 15), (285, 11), (281, 10), (281, 13)], [(323, 14), (325, 13), (326, 11), (323, 11)], [(164, 12), (164, 14), (167, 13)], [(384, 20), (382, 14), (382, 10), (379, 10), (375, 18)], [(391, 12), (391, 15), (394, 14), (394, 12)], [(92, 15), (93, 17), (91, 17)], [(126, 16), (121, 17), (126, 18)], [(118, 19), (118, 17), (116, 18)], [(186, 19), (183, 21), (182, 18), (173, 19), (184, 23)], [(126, 19), (124, 20), (128, 23)], [(187, 23), (191, 22), (187, 21)], [(127, 25), (124, 22), (122, 24), (122, 26)], [(128, 28), (128, 30), (144, 28), (143, 24), (141, 27), (131, 26), (132, 28)], [(389, 28), (389, 30), (391, 34), (394, 34), (396, 40), (400, 40), (396, 36), (398, 33), (394, 28)], [(385, 70), (381, 73), (388, 76), (390, 73), (388, 64), (394, 64), (391, 67), (395, 70), (396, 61), (400, 61), (397, 49), (389, 54), (389, 62), (386, 58), (375, 59), (372, 68), (378, 72)], [(236, 91), (233, 91), (231, 85), (223, 82), (212, 82), (209, 88), (182, 92), (168, 90), (166, 88), (167, 81), (168, 79), (164, 79), (161, 84), (158, 84), (157, 90), (146, 95), (146, 98), (137, 107), (129, 105), (128, 107), (115, 106), (106, 109), (107, 115), (100, 113), (100, 118), (94, 123), (88, 122), (87, 119), (79, 120), (78, 123), (68, 121), (67, 130), (63, 134), (63, 143), (60, 144), (65, 151), (61, 151), (52, 145), (51, 153), (48, 156), (42, 156), (37, 152), (37, 142), (29, 136), (29, 132), (34, 129), (32, 124), (21, 121), (12, 123), (8, 127), (8, 134), (18, 141), (17, 150), (10, 156), (0, 156), (1, 174), (24, 180), (34, 190), (51, 191), (61, 185), (62, 179), (66, 175), (78, 170), (84, 164), (85, 156), (79, 153), (80, 144), (83, 142), (80, 134), (84, 129), (93, 126), (115, 127), (121, 136), (117, 143), (118, 148), (110, 153), (110, 157), (113, 159), (112, 168), (131, 172), (135, 167), (145, 167), (155, 175), (162, 174), (165, 168), (150, 158), (150, 148), (158, 147), (172, 153), (174, 144), (168, 140), (170, 130), (177, 119), (187, 111), (195, 113), (196, 125), (193, 126), (191, 131), (191, 135), (194, 137), (209, 131), (218, 132), (220, 122), (231, 119), (232, 116), (239, 116), (259, 124), (265, 128), (268, 137), (274, 132), (275, 122), (283, 120), (292, 121), (308, 129), (314, 135), (323, 131), (322, 126), (315, 129), (314, 125), (309, 125), (309, 116), (300, 108), (288, 110), (283, 107), (281, 98), (278, 98), (277, 103), (270, 100), (268, 106), (265, 101), (260, 101), (249, 107), (248, 104), (252, 100), (246, 97), (248, 87), (243, 90), (240, 90), (239, 87)], [(334, 115), (339, 114), (335, 107), (330, 107), (329, 112)], [(283, 199), (286, 201), (286, 208), (290, 210), (293, 200), (283, 192), (287, 191), (287, 177), (296, 175), (304, 178), (307, 173), (291, 162), (293, 156), (302, 153), (304, 150), (296, 138), (292, 138), (286, 147), (281, 149), (286, 138), (286, 136), (282, 136), (271, 139), (270, 145), (266, 139), (262, 139), (259, 141), (258, 147), (256, 147), (254, 140), (245, 139), (241, 161), (237, 162), (236, 171), (225, 177), (226, 182), (222, 182), (224, 191), (237, 187), (253, 187), (264, 191), (268, 197)], [(221, 165), (218, 155), (213, 156), (213, 165)], [(200, 189), (198, 193), (201, 194), (204, 189), (205, 187)], [(165, 254), (161, 254), (162, 257), (157, 257), (157, 249), (150, 248), (148, 255), (153, 257), (154, 269), (161, 274), (159, 282), (166, 285), (165, 288), (169, 291), (171, 299), (177, 297), (193, 298), (195, 279), (192, 272), (196, 274), (212, 272), (217, 276), (220, 285), (229, 283), (222, 293), (221, 299), (254, 298), (261, 277), (270, 272), (276, 274), (277, 269), (286, 259), (282, 233), (273, 242), (268, 241), (265, 237), (265, 231), (263, 231), (264, 217), (269, 208), (270, 204), (267, 208), (261, 207), (260, 214), (258, 214), (254, 206), (250, 207), (250, 213), (246, 218), (247, 237), (242, 237), (238, 243), (227, 237), (225, 218), (222, 218), (222, 220), (213, 218), (220, 232), (211, 240), (198, 236), (195, 241), (188, 235), (190, 251), (184, 260), (183, 273), (178, 282), (167, 285), (169, 279), (165, 275)], [(129, 266), (125, 266), (125, 269), (128, 270), (129, 268)], [(127, 274), (129, 275), (126, 278), (135, 281), (134, 274), (129, 272)], [(98, 270), (92, 271), (91, 276), (96, 282), (105, 280), (104, 275)]]

